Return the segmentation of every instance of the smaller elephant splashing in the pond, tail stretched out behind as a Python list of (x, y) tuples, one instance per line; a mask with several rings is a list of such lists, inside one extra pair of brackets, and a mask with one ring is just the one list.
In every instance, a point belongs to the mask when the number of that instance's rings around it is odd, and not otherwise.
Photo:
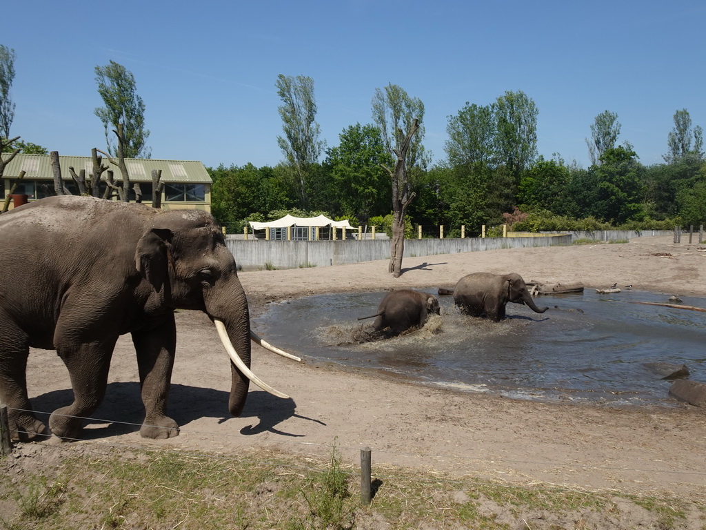
[(439, 314), (439, 302), (434, 295), (412, 289), (391, 290), (378, 305), (378, 312), (359, 320), (375, 318), (375, 331), (390, 328), (399, 335), (407, 329), (426, 324), (429, 313)]

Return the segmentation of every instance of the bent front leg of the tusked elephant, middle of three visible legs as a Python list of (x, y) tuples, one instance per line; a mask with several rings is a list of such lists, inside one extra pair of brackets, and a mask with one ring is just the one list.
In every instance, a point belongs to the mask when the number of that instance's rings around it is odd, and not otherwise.
[(71, 377), (73, 403), (57, 408), (49, 416), (52, 433), (66, 440), (75, 440), (87, 418), (98, 408), (108, 382), (108, 369), (115, 340), (83, 343), (78, 348), (57, 348)]

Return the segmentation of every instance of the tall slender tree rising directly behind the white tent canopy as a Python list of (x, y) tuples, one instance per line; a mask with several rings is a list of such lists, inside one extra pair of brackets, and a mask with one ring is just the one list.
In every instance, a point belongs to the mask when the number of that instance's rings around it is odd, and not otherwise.
[(301, 207), (309, 207), (311, 170), (324, 148), (319, 140), (320, 127), (316, 123), (316, 100), (313, 80), (307, 76), (277, 76), (277, 95), (282, 99), (278, 111), (285, 136), (277, 136), (277, 145), (292, 167)]

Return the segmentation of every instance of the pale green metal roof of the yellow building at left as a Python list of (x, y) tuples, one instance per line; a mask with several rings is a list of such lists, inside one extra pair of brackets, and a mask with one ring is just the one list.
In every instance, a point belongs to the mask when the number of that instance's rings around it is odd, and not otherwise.
[[(2, 157), (9, 158), (8, 153), (3, 153)], [(133, 182), (152, 182), (152, 170), (162, 170), (162, 180), (167, 183), (174, 182), (195, 182), (201, 184), (211, 184), (213, 181), (208, 175), (203, 163), (193, 160), (155, 160), (153, 158), (126, 158), (125, 164), (128, 167), (130, 179)], [(102, 165), (107, 165), (113, 171), (116, 180), (121, 179), (120, 170), (116, 165), (109, 163), (103, 157)], [(69, 167), (73, 167), (76, 174), (80, 170), (86, 170), (86, 175), (90, 175), (93, 170), (93, 162), (90, 156), (62, 156), (59, 155), (59, 166), (61, 167), (61, 178), (71, 179)], [(4, 178), (13, 179), (20, 175), (20, 171), (25, 171), (26, 179), (53, 179), (52, 163), (49, 155), (17, 155), (9, 163), (3, 172)], [(105, 175), (105, 174), (103, 174)]]

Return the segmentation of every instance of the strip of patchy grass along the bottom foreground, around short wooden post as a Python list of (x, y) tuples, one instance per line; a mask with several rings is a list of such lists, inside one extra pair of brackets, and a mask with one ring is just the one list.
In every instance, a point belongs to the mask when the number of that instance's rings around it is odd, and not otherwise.
[(61, 454), (52, 454), (41, 472), (9, 472), (0, 459), (0, 529), (676, 529), (706, 523), (700, 499), (510, 485), (374, 462), (373, 501), (361, 507), (358, 470), (342, 463), (335, 445), (325, 460), (263, 449), (227, 457), (90, 444), (46, 450)]

